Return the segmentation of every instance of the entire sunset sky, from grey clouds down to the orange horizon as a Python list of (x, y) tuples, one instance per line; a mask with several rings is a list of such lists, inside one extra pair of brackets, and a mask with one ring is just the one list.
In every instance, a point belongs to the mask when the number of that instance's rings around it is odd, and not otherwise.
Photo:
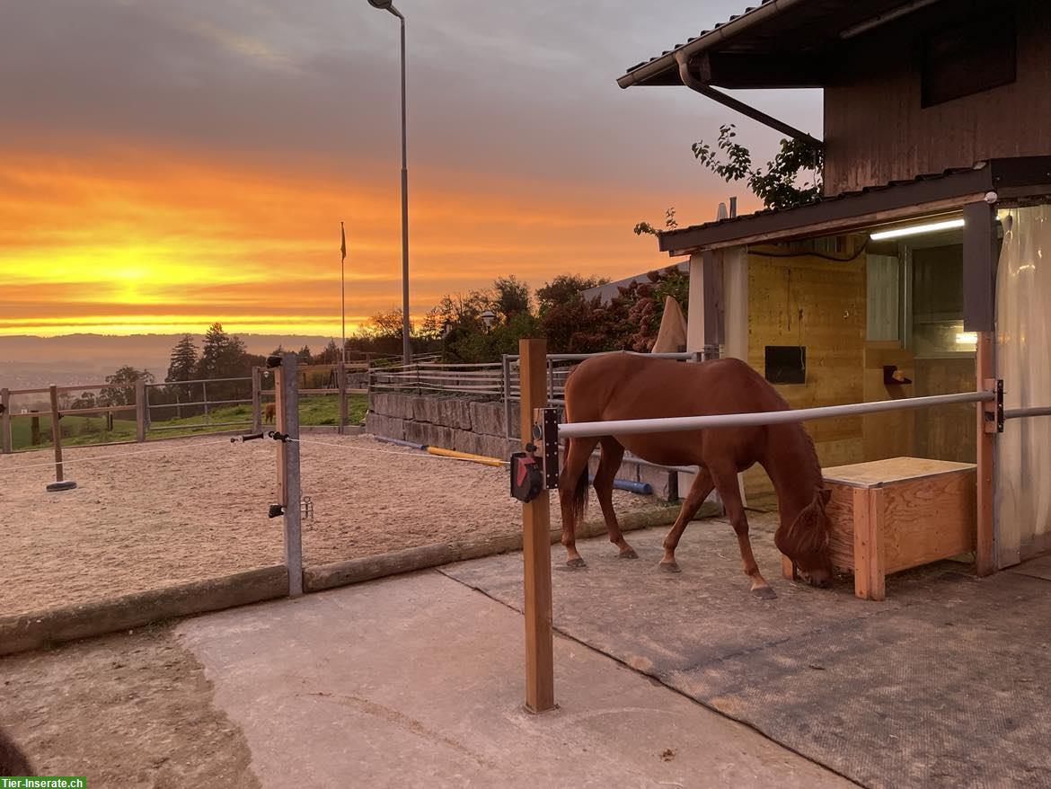
[[(666, 265), (634, 224), (734, 194), (691, 143), (779, 136), (615, 80), (744, 5), (400, 0), (413, 316), (500, 275)], [(4, 0), (0, 335), (338, 336), (341, 220), (348, 323), (399, 305), (397, 47), (366, 0)], [(747, 98), (821, 130), (815, 92)]]

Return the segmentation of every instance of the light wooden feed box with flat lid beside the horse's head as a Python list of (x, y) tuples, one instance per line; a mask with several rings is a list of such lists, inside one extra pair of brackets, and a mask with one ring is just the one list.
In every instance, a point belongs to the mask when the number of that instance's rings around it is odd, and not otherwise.
[(859, 598), (883, 600), (888, 573), (974, 550), (973, 463), (891, 458), (823, 473), (832, 564), (853, 570)]

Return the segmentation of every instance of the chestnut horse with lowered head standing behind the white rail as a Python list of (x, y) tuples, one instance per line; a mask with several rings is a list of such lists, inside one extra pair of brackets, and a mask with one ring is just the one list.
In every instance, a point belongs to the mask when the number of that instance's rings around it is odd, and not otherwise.
[[(788, 404), (774, 387), (737, 359), (684, 364), (644, 355), (609, 353), (578, 365), (565, 383), (566, 422), (787, 409)], [(686, 524), (715, 488), (737, 532), (751, 591), (761, 598), (776, 596), (751, 553), (748, 520), (737, 482), (739, 471), (759, 463), (774, 482), (778, 497), (781, 517), (775, 535), (778, 549), (790, 558), (815, 586), (830, 584), (832, 568), (825, 515), (830, 491), (823, 487), (813, 442), (801, 424), (570, 439), (558, 493), (562, 508), (562, 545), (571, 567), (584, 565), (577, 552), (575, 529), (588, 503), (588, 459), (597, 444), (601, 444), (602, 454), (595, 473), (595, 491), (610, 542), (620, 549), (621, 558), (636, 558), (613, 511), (613, 480), (627, 449), (662, 466), (699, 467), (679, 517), (664, 539), (661, 569), (679, 572), (675, 549)]]

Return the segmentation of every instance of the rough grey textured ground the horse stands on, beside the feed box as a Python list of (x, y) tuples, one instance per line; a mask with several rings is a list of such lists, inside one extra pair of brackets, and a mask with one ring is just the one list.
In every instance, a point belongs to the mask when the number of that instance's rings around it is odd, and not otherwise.
[[(859, 601), (849, 583), (780, 579), (770, 517), (749, 519), (777, 600), (748, 593), (730, 527), (709, 521), (687, 530), (677, 575), (656, 567), (664, 529), (628, 535), (639, 562), (580, 543), (589, 568), (555, 568), (555, 627), (866, 786), (1051, 773), (1051, 644), (1033, 626), (1051, 622), (1051, 585), (941, 563), (890, 576), (884, 603)], [(517, 557), (444, 571), (520, 606)]]

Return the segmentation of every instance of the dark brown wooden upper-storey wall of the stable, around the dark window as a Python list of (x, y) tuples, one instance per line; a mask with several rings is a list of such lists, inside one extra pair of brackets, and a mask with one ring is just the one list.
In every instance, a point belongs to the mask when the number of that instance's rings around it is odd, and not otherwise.
[[(826, 195), (985, 159), (1051, 154), (1051, 2), (971, 2), (984, 13), (1016, 15), (1017, 80), (923, 108), (915, 34), (888, 24), (859, 39), (847, 47), (843, 84), (825, 88)], [(945, 5), (910, 16), (925, 16), (936, 31)]]

